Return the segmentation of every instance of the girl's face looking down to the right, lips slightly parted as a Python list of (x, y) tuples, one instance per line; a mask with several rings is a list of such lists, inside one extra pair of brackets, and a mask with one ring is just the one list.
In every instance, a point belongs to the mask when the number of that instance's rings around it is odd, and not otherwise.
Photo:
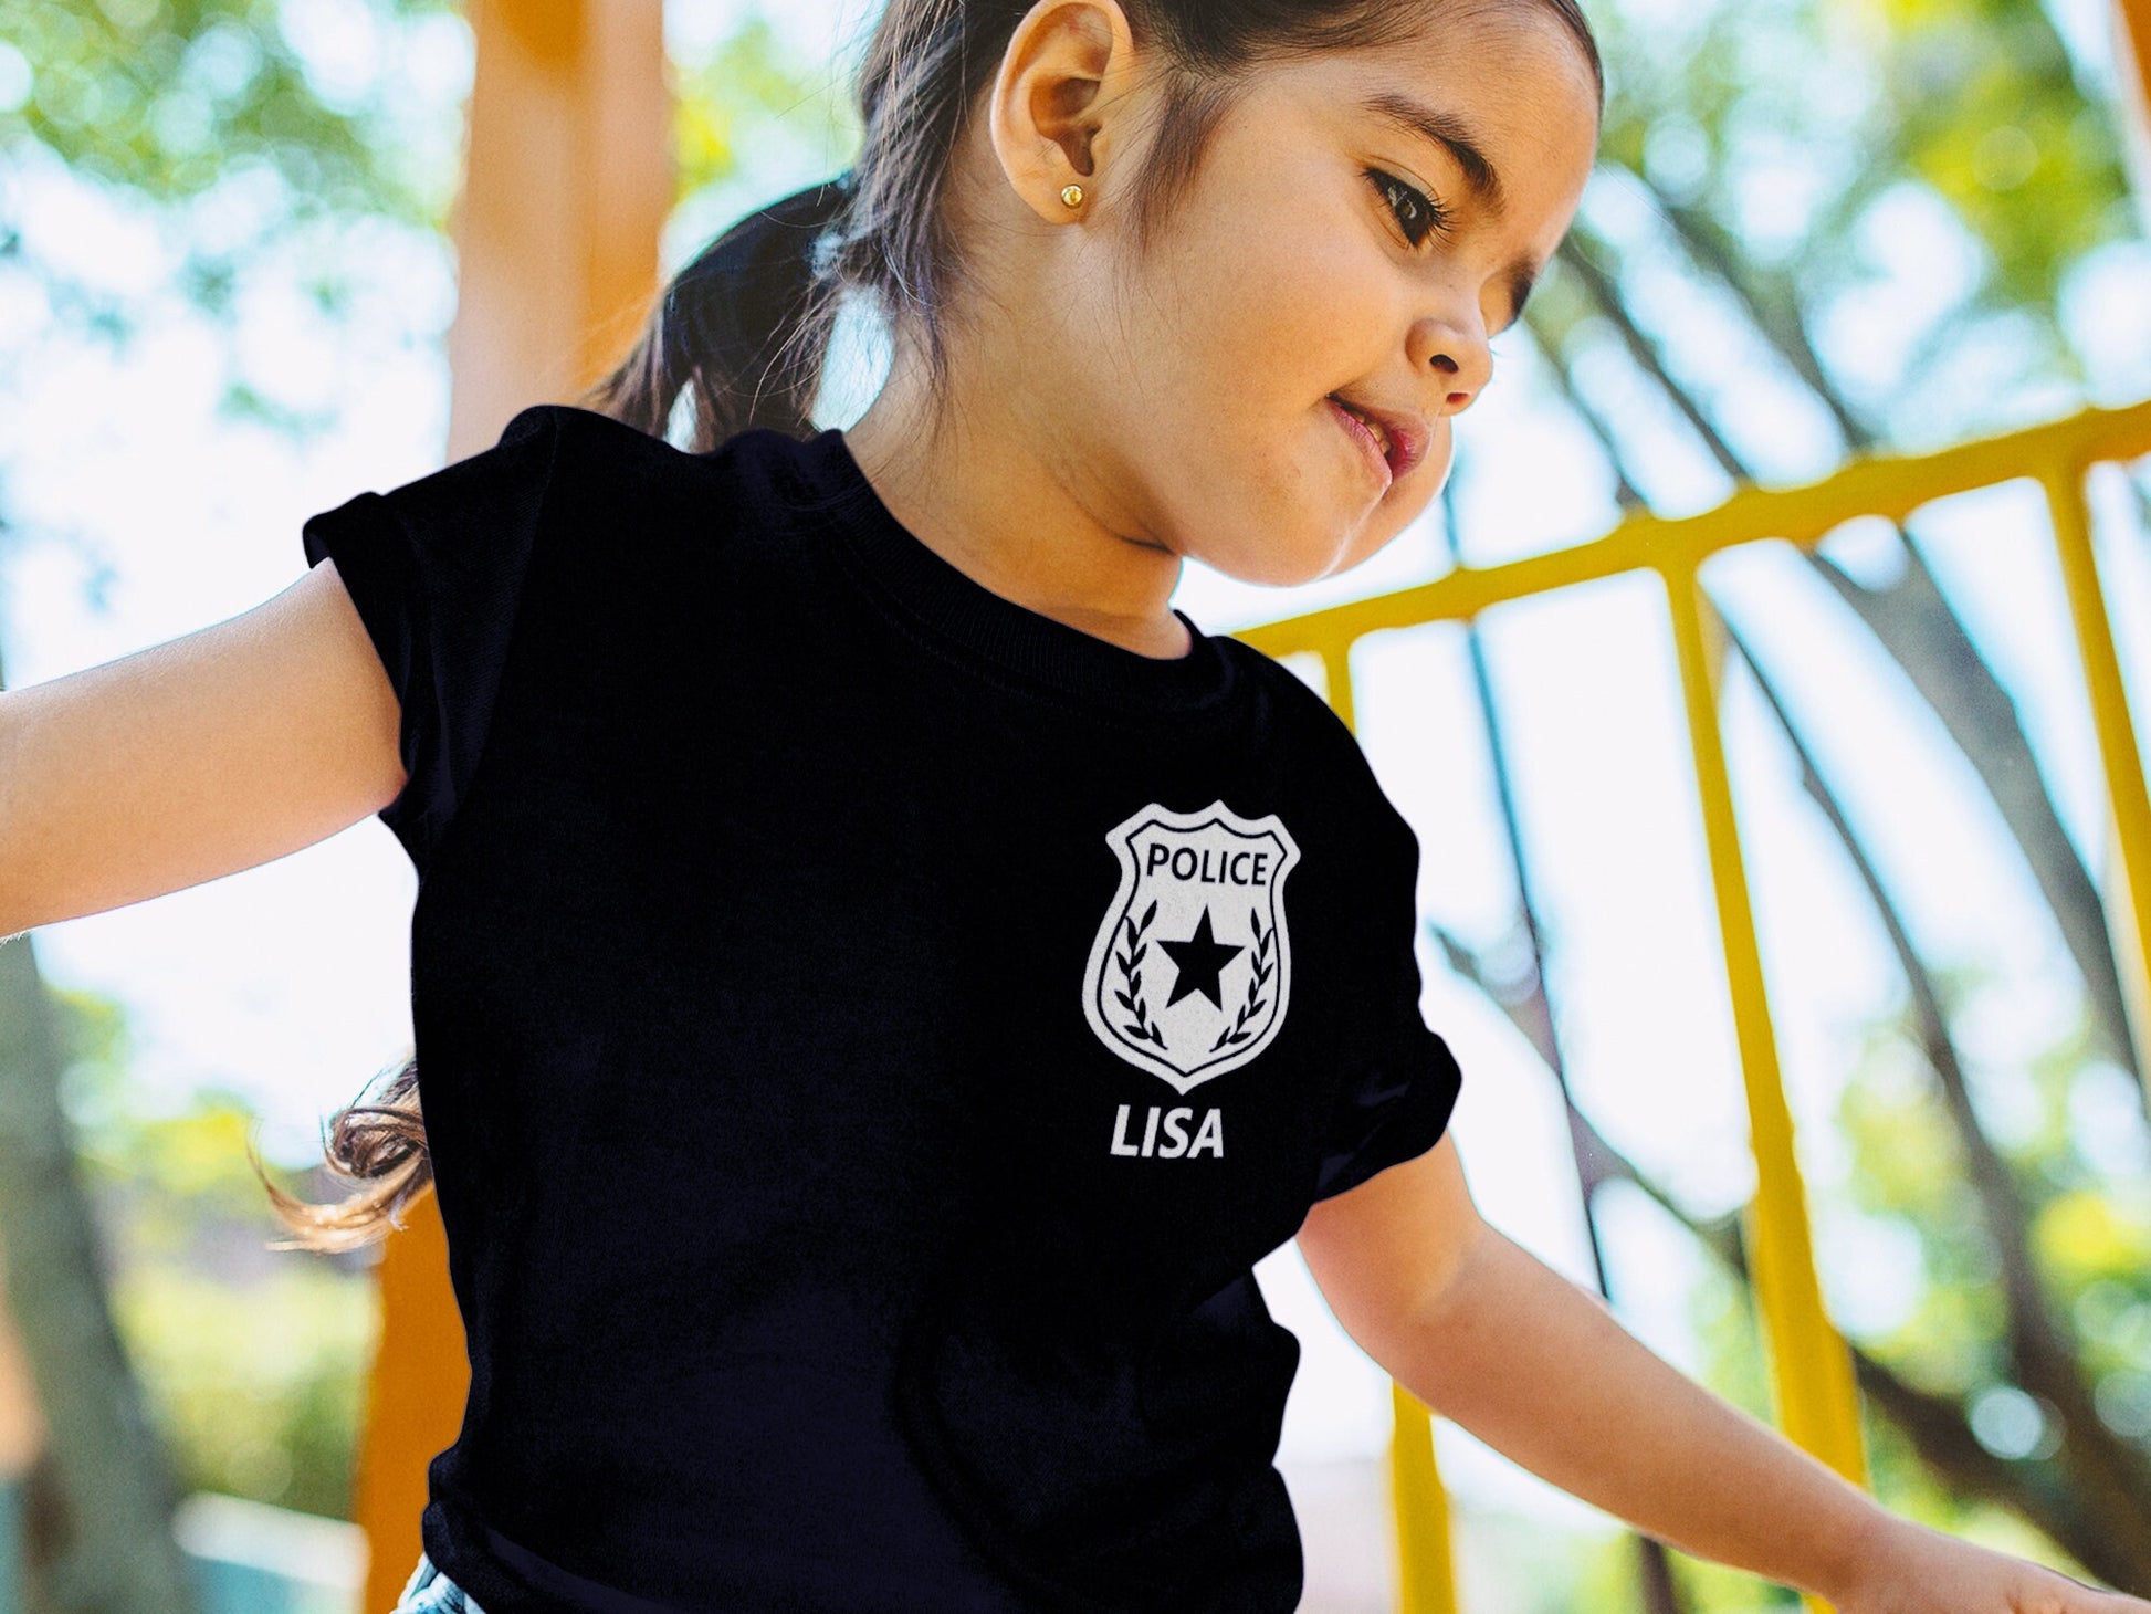
[[(1030, 265), (1058, 306), (1028, 340), (1056, 349), (1063, 469), (1110, 529), (1230, 577), (1359, 564), (1448, 480), (1488, 338), (1568, 230), (1598, 142), (1581, 47), (1519, 4), (1265, 67), (1149, 254), (1112, 211), (1114, 157), (1142, 157), (1121, 129), (1084, 181), (1099, 211)], [(1392, 480), (1336, 396), (1400, 420), (1415, 463)]]

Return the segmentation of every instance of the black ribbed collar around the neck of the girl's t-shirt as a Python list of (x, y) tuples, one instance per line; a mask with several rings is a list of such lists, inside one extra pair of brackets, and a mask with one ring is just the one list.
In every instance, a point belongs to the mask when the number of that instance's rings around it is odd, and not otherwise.
[(923, 542), (882, 504), (830, 426), (800, 443), (794, 463), (850, 551), (934, 633), (1013, 671), (1129, 717), (1207, 710), (1233, 693), (1233, 656), (1172, 607), (1194, 637), (1185, 656), (1144, 656), (996, 594)]

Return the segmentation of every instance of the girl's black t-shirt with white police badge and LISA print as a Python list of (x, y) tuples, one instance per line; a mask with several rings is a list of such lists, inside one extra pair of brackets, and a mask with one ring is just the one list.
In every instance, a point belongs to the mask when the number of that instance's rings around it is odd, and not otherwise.
[(841, 430), (540, 405), (305, 523), (471, 1351), (488, 1614), (1293, 1610), (1254, 1263), (1441, 1136), (1418, 841), (1342, 721), (910, 534)]

